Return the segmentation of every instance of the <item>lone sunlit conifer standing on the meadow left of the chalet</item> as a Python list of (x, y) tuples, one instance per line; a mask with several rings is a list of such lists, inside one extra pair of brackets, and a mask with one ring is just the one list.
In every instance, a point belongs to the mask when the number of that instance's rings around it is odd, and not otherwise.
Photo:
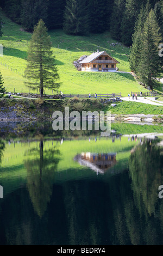
[[(44, 88), (58, 89), (59, 75), (55, 64), (55, 57), (51, 50), (51, 38), (47, 34), (45, 23), (40, 20), (34, 27), (32, 39), (29, 43), (27, 66), (24, 77), (29, 81), (26, 86), (40, 89), (40, 97)], [(32, 81), (33, 80), (33, 81)]]

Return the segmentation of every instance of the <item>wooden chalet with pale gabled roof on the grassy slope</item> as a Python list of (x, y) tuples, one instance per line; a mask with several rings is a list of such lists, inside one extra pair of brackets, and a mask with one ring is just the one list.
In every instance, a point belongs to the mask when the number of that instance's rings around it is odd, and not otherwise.
[(92, 53), (89, 57), (79, 62), (82, 65), (82, 71), (105, 71), (105, 72), (116, 72), (116, 65), (118, 62), (112, 58), (105, 51)]

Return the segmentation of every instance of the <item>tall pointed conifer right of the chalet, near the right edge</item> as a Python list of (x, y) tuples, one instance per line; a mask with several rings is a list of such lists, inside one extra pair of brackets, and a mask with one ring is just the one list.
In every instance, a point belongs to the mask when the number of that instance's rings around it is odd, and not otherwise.
[(161, 72), (161, 61), (158, 54), (158, 46), (161, 42), (159, 34), (159, 26), (156, 22), (154, 11), (151, 10), (147, 16), (145, 26), (142, 33), (142, 48), (140, 52), (139, 66), (137, 73), (140, 80), (146, 86), (153, 89), (154, 79)]

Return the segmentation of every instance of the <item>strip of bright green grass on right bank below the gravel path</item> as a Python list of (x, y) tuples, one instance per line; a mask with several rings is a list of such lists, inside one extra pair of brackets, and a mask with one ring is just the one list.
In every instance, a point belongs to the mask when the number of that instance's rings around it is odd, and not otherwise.
[(116, 107), (109, 106), (111, 114), (163, 114), (162, 106), (155, 106), (139, 102), (122, 101)]

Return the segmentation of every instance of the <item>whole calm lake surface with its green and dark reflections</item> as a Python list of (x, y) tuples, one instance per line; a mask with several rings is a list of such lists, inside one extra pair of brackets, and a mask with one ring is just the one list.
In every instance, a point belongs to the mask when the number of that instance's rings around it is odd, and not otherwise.
[(162, 126), (114, 124), (107, 138), (15, 127), (1, 129), (1, 245), (163, 244), (162, 138), (139, 137)]

